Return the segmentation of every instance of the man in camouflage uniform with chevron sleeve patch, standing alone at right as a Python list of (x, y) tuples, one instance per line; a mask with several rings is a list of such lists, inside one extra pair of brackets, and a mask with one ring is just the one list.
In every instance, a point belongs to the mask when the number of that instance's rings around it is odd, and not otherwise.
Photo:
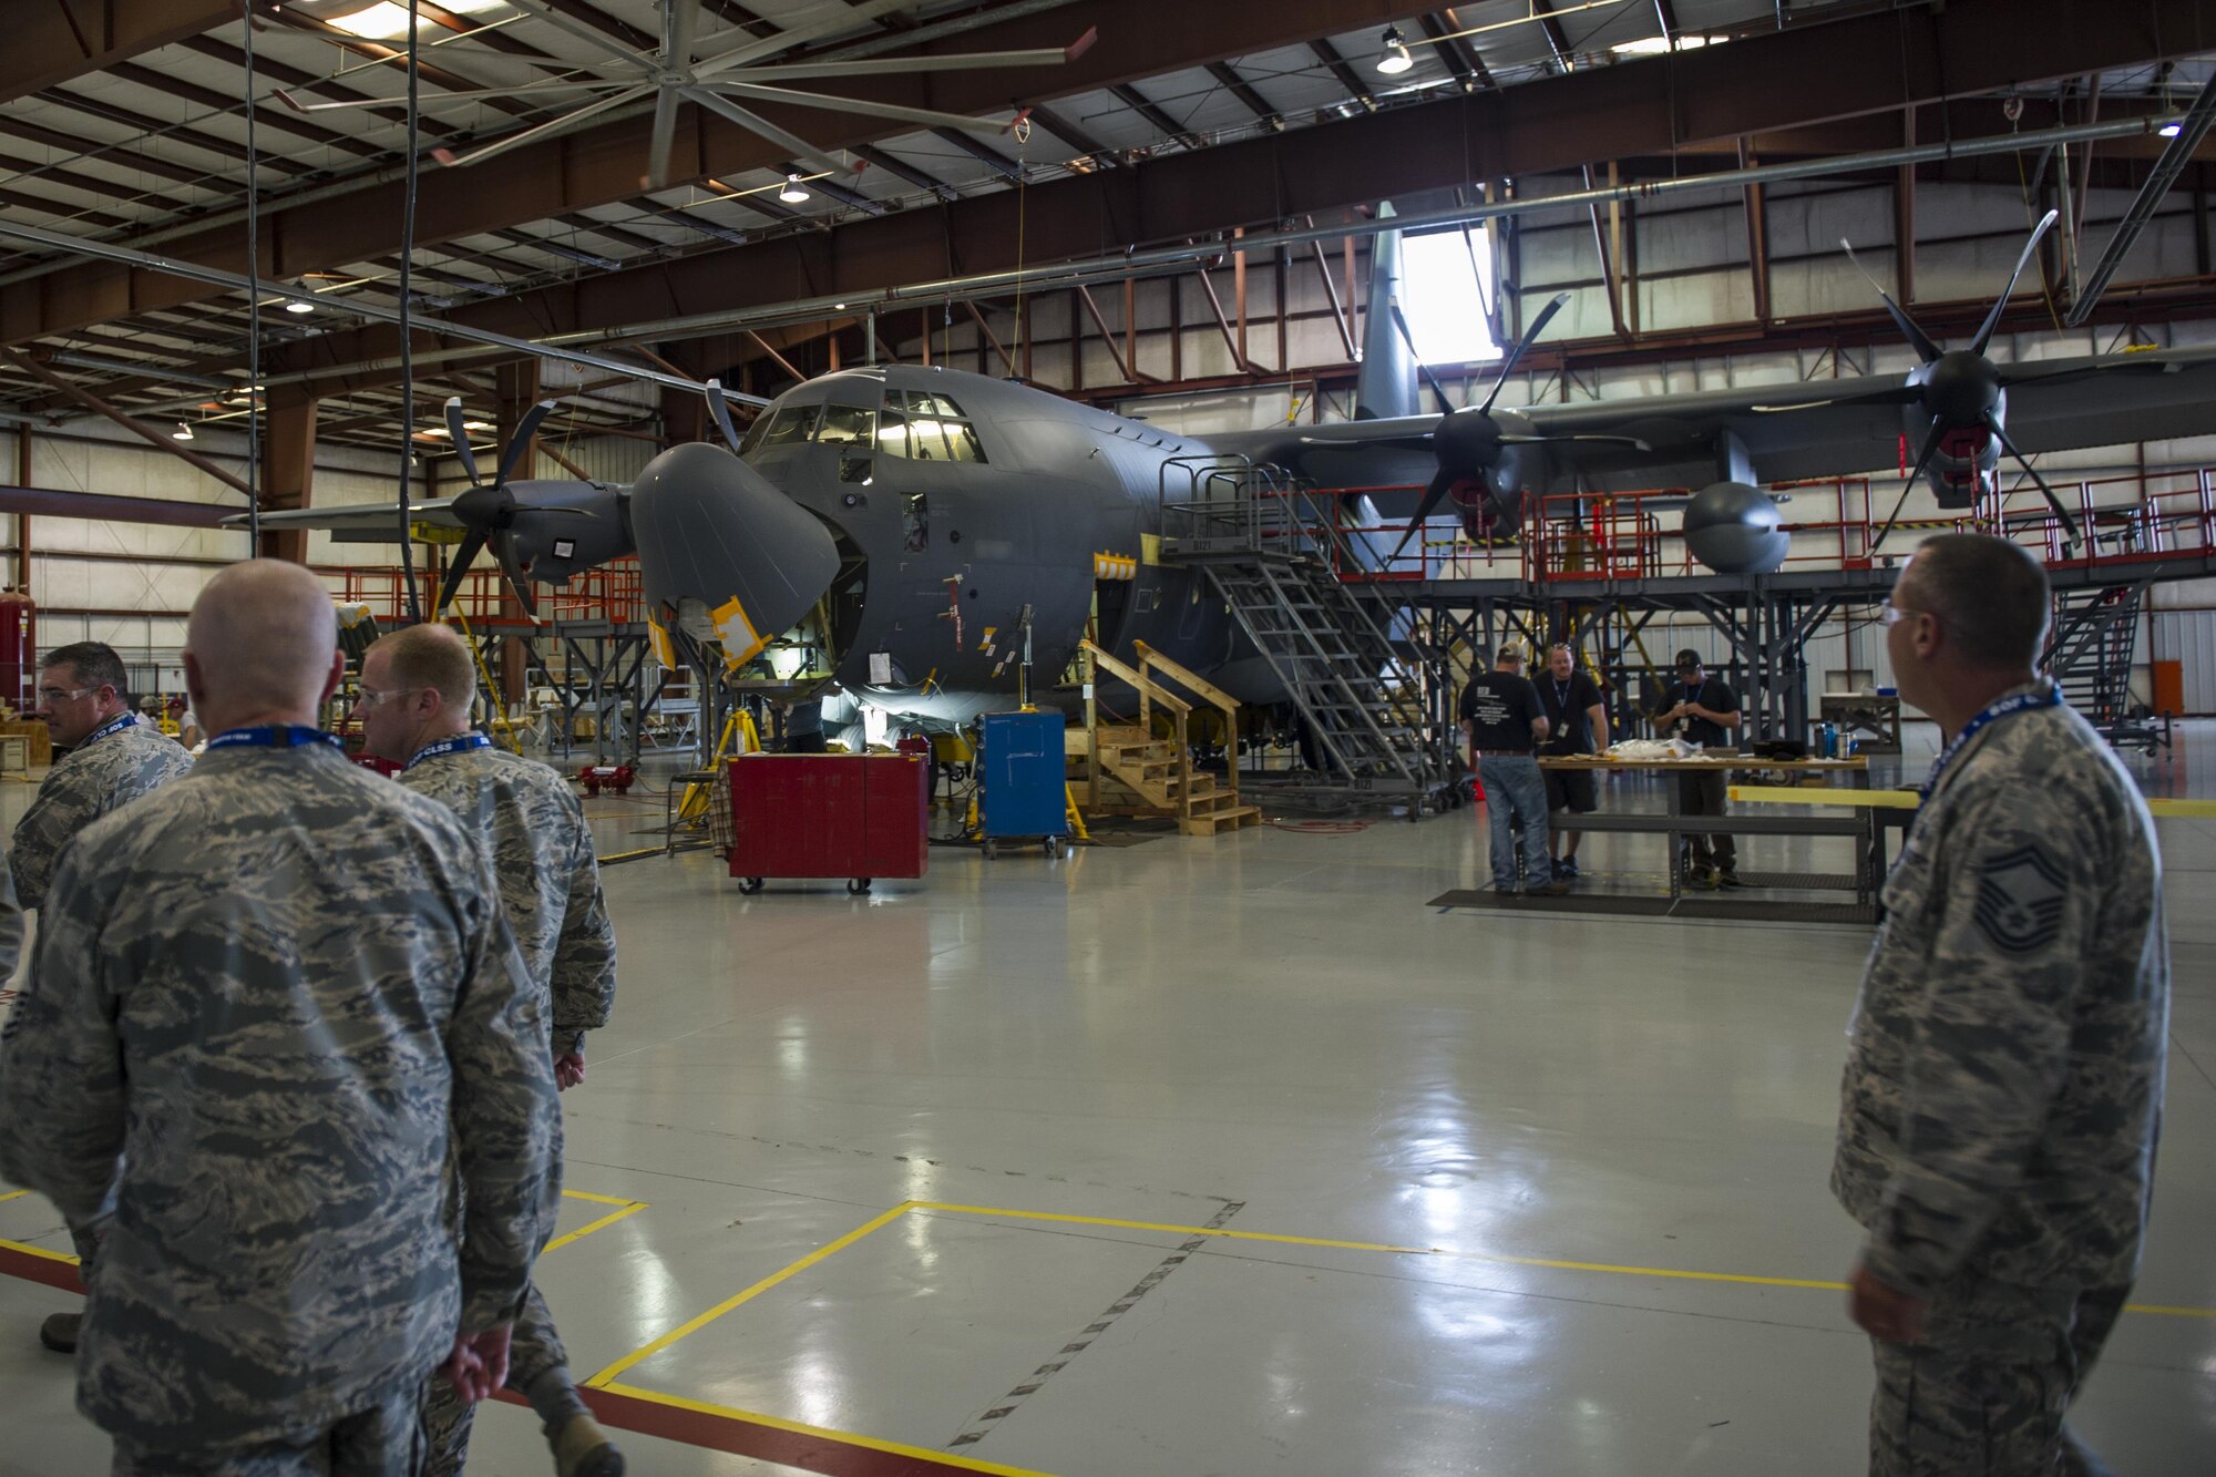
[(2147, 1224), (2169, 1022), (2154, 825), (2032, 679), (2048, 583), (1926, 543), (1895, 588), (1901, 696), (1950, 736), (1886, 883), (1833, 1191), (1868, 1229), (1870, 1470), (2105, 1470), (2063, 1424)]

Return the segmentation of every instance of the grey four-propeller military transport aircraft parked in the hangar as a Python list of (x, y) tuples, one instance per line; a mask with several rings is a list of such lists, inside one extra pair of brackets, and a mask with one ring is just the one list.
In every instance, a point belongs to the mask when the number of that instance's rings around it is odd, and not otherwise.
[[(1389, 273), (1381, 291), (1392, 291)], [(1560, 299), (1536, 315), (1480, 404), (1332, 426), (1181, 437), (1008, 379), (851, 368), (780, 395), (745, 441), (711, 390), (731, 450), (676, 446), (629, 488), (507, 481), (532, 419), (490, 483), (414, 517), (465, 530), (445, 594), (488, 543), (525, 601), (530, 583), (558, 585), (636, 552), (665, 636), (714, 641), (731, 665), (791, 636), (822, 652), (849, 694), (902, 716), (964, 721), (1004, 703), (1026, 639), (1037, 672), (1061, 672), (1095, 612), (1101, 645), (1146, 641), (1243, 701), (1272, 701), (1281, 694), (1206, 577), (1155, 557), (1163, 503), (1192, 497), (1194, 468), (1274, 464), (1321, 488), (1427, 483), (1398, 503), (1358, 503), (1354, 521), (1420, 521), (1451, 497), (1471, 534), (1498, 539), (1542, 492), (1728, 486), (1760, 499), (1740, 483), (1884, 468), (1904, 437), (1921, 448), (1910, 486), (1928, 470), (1941, 506), (1959, 508), (2001, 450), (2021, 461), (2216, 432), (2216, 350), (1997, 366), (1983, 350), (2005, 297), (1955, 353), (1886, 297), (1923, 364), (1906, 377), (1826, 381), (1824, 399), (1802, 404), (1779, 404), (1773, 386), (1496, 408), (1516, 355)], [(1361, 406), (1407, 404), (1407, 388), (1381, 384), (1394, 368), (1405, 357), (1372, 355)], [(461, 406), (448, 417), (474, 483)], [(375, 534), (392, 510), (261, 523)], [(674, 663), (667, 639), (658, 652)]]

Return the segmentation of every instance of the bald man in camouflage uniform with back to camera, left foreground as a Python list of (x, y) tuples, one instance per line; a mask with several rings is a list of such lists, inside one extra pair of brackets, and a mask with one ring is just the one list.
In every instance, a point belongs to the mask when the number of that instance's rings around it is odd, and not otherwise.
[(184, 661), (219, 736), (64, 849), (0, 1173), (113, 1200), (78, 1406), (117, 1475), (412, 1477), (425, 1375), (505, 1366), (554, 1224), (541, 996), (452, 812), (312, 727), (343, 672), (312, 574), (222, 572)]

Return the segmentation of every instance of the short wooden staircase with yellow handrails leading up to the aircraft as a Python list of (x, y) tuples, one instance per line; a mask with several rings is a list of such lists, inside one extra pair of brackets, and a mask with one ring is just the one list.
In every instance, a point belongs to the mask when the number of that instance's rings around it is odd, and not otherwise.
[[(1170, 676), (1203, 699), (1225, 710), (1225, 752), (1237, 756), (1237, 703), (1210, 687), (1199, 676), (1177, 668), (1159, 652), (1139, 648), (1139, 668), (1130, 668), (1090, 641), (1084, 643), (1086, 690), (1092, 690), (1097, 670), (1130, 683), (1139, 690), (1139, 723), (1101, 723), (1095, 705), (1086, 703), (1086, 727), (1070, 732), (1075, 754), (1086, 756), (1086, 807), (1121, 809), (1132, 814), (1166, 814), (1177, 818), (1177, 829), (1186, 836), (1214, 836), (1261, 825), (1261, 809), (1239, 801), (1237, 772), (1219, 781), (1206, 770), (1192, 767), (1192, 743), (1188, 719), (1192, 705), (1168, 692), (1157, 676)], [(1157, 738), (1152, 730), (1155, 710), (1170, 719), (1172, 734)]]

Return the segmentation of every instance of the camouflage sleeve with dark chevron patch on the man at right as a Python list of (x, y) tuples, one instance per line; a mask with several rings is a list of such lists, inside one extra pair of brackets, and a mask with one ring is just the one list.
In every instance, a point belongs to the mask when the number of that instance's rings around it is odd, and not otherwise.
[(1864, 1253), (1930, 1295), (2023, 1182), (2070, 1065), (2105, 860), (2068, 796), (2005, 783), (1935, 858), (1930, 976), (1904, 1062), (1901, 1147)]

